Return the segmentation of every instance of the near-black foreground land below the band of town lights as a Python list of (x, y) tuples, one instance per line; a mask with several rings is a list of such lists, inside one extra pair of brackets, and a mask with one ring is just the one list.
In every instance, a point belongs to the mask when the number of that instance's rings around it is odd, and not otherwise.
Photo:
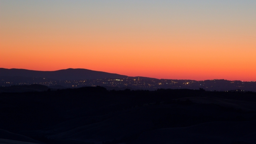
[(255, 144), (256, 93), (82, 87), (0, 93), (0, 143)]

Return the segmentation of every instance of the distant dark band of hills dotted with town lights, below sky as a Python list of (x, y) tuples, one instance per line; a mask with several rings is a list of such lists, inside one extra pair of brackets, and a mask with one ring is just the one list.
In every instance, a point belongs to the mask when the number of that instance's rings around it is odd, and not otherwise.
[[(205, 89), (206, 91), (256, 91), (256, 81), (171, 80), (106, 73), (88, 69), (36, 71), (0, 68), (0, 86), (40, 84), (50, 89), (103, 86), (108, 90)], [(14, 88), (14, 87), (12, 87)], [(17, 87), (21, 89), (20, 87)], [(25, 89), (31, 89), (25, 87)], [(33, 88), (34, 89), (34, 88)], [(12, 89), (10, 89), (12, 91)]]

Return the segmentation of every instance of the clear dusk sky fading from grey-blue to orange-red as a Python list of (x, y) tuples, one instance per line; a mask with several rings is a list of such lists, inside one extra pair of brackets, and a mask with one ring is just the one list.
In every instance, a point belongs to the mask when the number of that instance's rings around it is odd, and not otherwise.
[(0, 68), (256, 81), (256, 0), (0, 0)]

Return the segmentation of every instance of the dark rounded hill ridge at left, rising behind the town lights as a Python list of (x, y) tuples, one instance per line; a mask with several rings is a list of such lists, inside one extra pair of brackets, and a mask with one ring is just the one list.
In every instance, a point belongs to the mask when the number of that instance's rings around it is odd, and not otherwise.
[[(128, 76), (106, 73), (103, 71), (94, 71), (89, 69), (63, 69), (56, 71), (37, 71), (27, 69), (5, 69), (0, 68), (0, 76), (23, 76), (23, 77), (41, 77), (55, 80), (84, 80), (84, 79), (105, 79), (105, 78), (117, 78), (124, 79)], [(138, 77), (129, 77), (138, 78)], [(154, 79), (140, 77), (143, 79)]]

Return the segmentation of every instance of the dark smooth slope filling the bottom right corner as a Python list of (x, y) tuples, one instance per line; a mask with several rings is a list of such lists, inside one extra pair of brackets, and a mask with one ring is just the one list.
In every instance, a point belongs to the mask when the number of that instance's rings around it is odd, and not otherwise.
[(131, 144), (254, 144), (255, 122), (210, 122), (183, 128), (156, 129), (143, 133)]

